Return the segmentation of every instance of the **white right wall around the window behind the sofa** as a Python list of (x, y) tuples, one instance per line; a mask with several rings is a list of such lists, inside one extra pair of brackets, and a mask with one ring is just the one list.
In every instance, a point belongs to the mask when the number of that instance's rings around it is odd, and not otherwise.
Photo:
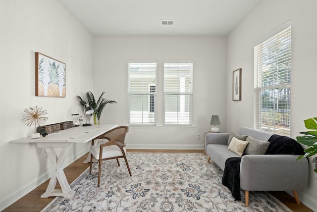
[[(253, 127), (254, 43), (288, 20), (292, 21), (291, 137), (306, 131), (304, 119), (316, 117), (317, 1), (263, 0), (227, 39), (226, 131)], [(242, 101), (233, 102), (232, 71), (242, 68)], [(240, 111), (243, 111), (240, 112)], [(312, 159), (310, 159), (312, 161)], [(317, 174), (300, 192), (301, 201), (317, 211)]]

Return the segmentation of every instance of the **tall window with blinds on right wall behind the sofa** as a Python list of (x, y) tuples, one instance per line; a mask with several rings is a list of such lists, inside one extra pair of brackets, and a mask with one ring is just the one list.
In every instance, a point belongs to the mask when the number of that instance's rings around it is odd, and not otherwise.
[(254, 127), (290, 135), (291, 24), (290, 21), (255, 44)]

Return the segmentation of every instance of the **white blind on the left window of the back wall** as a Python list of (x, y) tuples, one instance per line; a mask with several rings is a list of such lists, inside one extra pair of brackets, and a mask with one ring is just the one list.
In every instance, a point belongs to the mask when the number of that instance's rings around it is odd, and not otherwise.
[(128, 124), (156, 124), (157, 61), (128, 61)]

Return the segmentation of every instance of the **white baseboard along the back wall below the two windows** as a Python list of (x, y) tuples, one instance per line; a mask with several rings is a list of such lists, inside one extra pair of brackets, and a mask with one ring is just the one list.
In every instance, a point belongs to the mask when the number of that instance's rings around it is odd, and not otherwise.
[(159, 144), (130, 144), (126, 149), (148, 149), (148, 150), (204, 150), (202, 145), (159, 145)]

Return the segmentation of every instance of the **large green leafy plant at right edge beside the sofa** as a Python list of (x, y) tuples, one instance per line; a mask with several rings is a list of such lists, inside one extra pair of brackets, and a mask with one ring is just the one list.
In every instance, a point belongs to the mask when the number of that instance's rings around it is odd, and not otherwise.
[[(308, 158), (317, 154), (317, 117), (304, 120), (304, 122), (305, 127), (313, 131), (300, 132), (304, 136), (296, 137), (297, 142), (308, 146), (304, 151), (305, 154), (298, 157), (298, 159)], [(313, 163), (315, 163), (314, 171), (317, 173), (317, 157), (313, 159)]]

